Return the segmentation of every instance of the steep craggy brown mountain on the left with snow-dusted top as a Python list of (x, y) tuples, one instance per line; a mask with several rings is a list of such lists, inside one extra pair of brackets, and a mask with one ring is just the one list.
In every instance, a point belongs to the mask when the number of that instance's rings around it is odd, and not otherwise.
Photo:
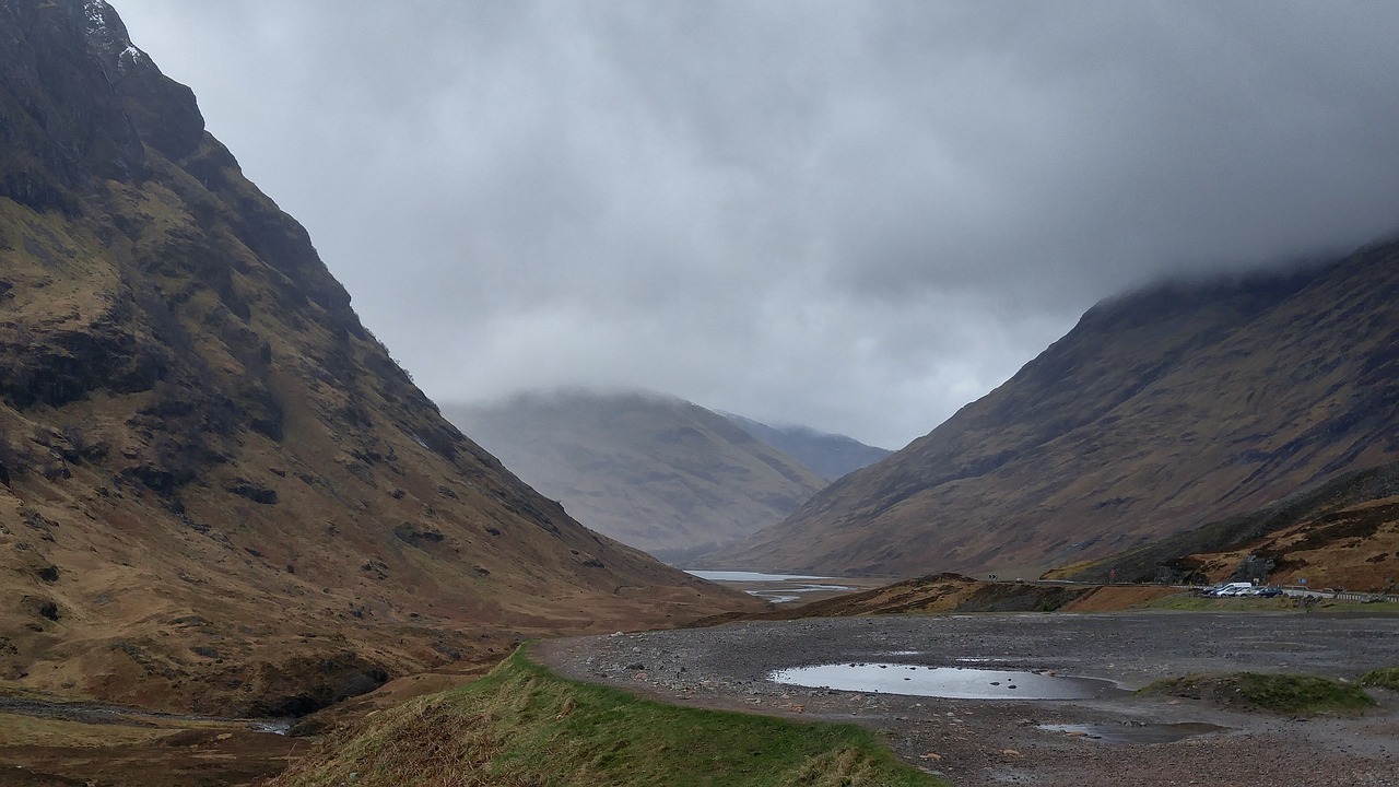
[(445, 422), (105, 1), (0, 0), (0, 679), (299, 714), (746, 604)]

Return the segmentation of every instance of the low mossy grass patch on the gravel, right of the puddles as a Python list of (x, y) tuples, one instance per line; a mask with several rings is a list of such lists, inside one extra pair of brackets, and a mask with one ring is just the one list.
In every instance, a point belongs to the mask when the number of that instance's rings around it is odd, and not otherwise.
[(1140, 689), (1140, 693), (1209, 699), (1241, 710), (1263, 710), (1288, 716), (1321, 713), (1357, 716), (1375, 704), (1375, 700), (1370, 699), (1357, 683), (1316, 675), (1260, 672), (1167, 678)]

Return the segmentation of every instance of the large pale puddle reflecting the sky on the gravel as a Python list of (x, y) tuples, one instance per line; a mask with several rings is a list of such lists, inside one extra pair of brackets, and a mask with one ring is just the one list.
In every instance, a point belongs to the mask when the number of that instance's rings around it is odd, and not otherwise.
[(1039, 672), (972, 669), (967, 667), (918, 667), (912, 664), (824, 664), (778, 669), (776, 683), (883, 692), (958, 700), (1072, 700), (1119, 696), (1112, 681), (1062, 678)]

